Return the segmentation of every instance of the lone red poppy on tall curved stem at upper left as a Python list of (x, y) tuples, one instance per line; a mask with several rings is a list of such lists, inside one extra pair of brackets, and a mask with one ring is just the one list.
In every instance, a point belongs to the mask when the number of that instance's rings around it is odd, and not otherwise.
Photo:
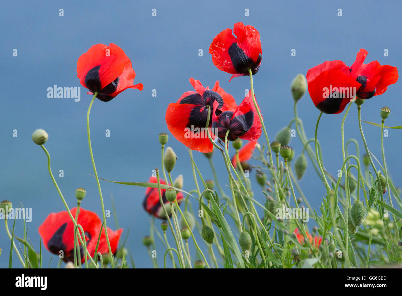
[(142, 83), (133, 85), (135, 72), (131, 61), (116, 44), (96, 44), (78, 58), (77, 76), (89, 89), (88, 94), (107, 102), (128, 88), (142, 91)]

